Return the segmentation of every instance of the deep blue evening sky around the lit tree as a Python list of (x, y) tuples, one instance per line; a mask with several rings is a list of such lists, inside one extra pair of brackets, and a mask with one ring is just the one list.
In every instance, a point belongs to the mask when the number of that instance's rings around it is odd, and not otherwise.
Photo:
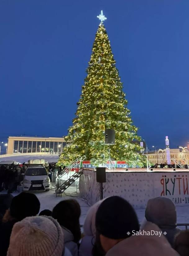
[(103, 10), (128, 108), (151, 148), (189, 141), (189, 1), (0, 2), (0, 141), (66, 135)]

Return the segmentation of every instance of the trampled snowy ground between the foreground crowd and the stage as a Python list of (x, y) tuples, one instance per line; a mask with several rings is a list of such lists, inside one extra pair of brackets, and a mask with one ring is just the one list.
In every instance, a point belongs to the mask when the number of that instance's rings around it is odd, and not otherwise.
[[(20, 187), (20, 191), (22, 187)], [(7, 192), (2, 192), (2, 193), (7, 193)], [(44, 191), (33, 191), (32, 193), (34, 193), (40, 203), (41, 203), (41, 208), (40, 211), (44, 210), (44, 209), (49, 209), (52, 210), (53, 207), (60, 202), (61, 200), (65, 200), (65, 199), (70, 199), (70, 198), (74, 198), (76, 199), (81, 207), (81, 217), (80, 217), (80, 224), (83, 225), (87, 211), (89, 209), (89, 205), (87, 203), (87, 201), (80, 195), (79, 193), (79, 189), (77, 189), (76, 187), (69, 187), (66, 190), (66, 193), (62, 194), (62, 197), (56, 197), (55, 194), (55, 187), (52, 186), (52, 189), (50, 189), (50, 191), (48, 192), (44, 192)], [(18, 192), (13, 193), (13, 196), (17, 195)], [(177, 223), (189, 223), (189, 206), (180, 206), (180, 207), (176, 207), (177, 210)], [(145, 215), (145, 209), (138, 209), (136, 210), (139, 222), (142, 222), (144, 215)], [(180, 227), (182, 229), (184, 229), (185, 227)]]

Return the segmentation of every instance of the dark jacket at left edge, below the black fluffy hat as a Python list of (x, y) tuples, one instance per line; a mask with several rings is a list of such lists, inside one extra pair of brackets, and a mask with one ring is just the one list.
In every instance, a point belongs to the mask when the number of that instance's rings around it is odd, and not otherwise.
[(6, 256), (9, 247), (11, 232), (16, 220), (0, 224), (0, 255)]

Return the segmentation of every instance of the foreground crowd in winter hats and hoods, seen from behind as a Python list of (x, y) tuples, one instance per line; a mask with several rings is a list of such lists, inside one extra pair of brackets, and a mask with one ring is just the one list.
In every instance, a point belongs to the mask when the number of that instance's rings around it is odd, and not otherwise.
[(178, 229), (168, 198), (150, 199), (141, 225), (129, 202), (105, 198), (89, 208), (83, 233), (76, 200), (63, 200), (52, 211), (39, 210), (32, 193), (0, 195), (1, 256), (189, 255), (189, 231)]

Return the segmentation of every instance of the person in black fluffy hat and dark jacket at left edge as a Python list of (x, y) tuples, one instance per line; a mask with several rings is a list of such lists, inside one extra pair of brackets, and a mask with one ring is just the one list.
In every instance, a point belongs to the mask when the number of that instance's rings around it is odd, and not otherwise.
[(12, 198), (10, 208), (5, 213), (0, 225), (0, 255), (6, 256), (9, 247), (11, 231), (14, 224), (28, 216), (35, 216), (40, 209), (40, 202), (36, 195), (20, 193)]

